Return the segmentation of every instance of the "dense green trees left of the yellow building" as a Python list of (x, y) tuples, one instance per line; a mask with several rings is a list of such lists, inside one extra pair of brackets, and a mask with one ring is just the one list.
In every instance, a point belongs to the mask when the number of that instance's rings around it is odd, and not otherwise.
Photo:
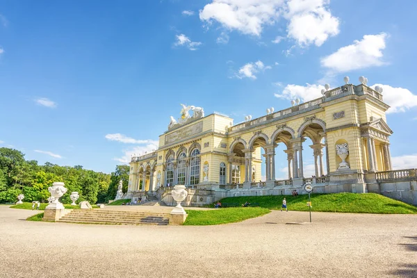
[[(85, 170), (81, 165), (70, 167), (49, 162), (38, 165), (38, 161), (25, 161), (24, 154), (16, 149), (0, 148), (0, 203), (16, 202), (17, 195), (22, 193), (26, 202), (46, 202), (50, 196), (48, 188), (55, 181), (63, 181), (68, 189), (60, 198), (64, 204), (72, 202), (70, 195), (74, 191), (80, 195), (78, 202), (104, 203), (114, 199), (120, 179), (123, 179), (126, 190), (129, 166), (119, 165), (109, 175)], [(111, 183), (113, 188), (110, 187)], [(108, 196), (108, 193), (112, 196)]]

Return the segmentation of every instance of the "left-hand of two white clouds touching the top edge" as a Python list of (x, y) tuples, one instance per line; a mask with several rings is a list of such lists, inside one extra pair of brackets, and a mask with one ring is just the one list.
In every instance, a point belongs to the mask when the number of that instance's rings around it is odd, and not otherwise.
[(213, 0), (199, 12), (207, 24), (217, 21), (224, 28), (259, 36), (263, 25), (272, 25), (279, 17), (284, 0)]

